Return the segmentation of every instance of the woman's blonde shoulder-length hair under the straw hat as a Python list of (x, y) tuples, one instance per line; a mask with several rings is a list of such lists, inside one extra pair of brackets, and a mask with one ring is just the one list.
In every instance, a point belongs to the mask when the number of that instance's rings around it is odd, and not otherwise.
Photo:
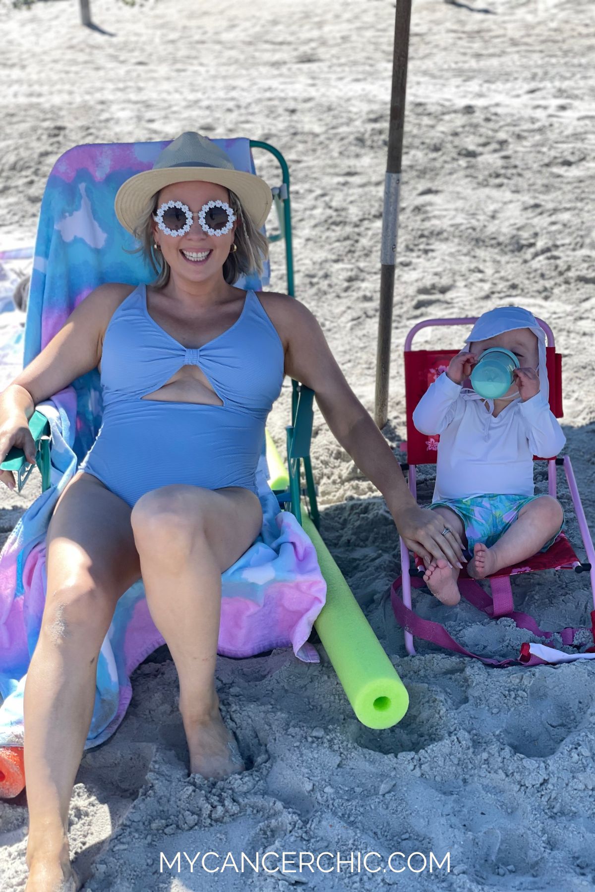
[[(227, 189), (227, 192), (229, 206), (236, 214), (237, 219), (235, 235), (237, 250), (227, 255), (227, 260), (223, 264), (223, 278), (227, 285), (234, 285), (242, 274), (257, 273), (258, 276), (262, 275), (265, 260), (269, 257), (269, 240), (254, 226), (236, 193), (231, 189)], [(140, 245), (132, 251), (127, 251), (129, 254), (142, 252), (145, 260), (151, 264), (156, 275), (152, 283), (153, 288), (162, 288), (169, 282), (169, 263), (161, 251), (155, 250), (153, 247), (153, 214), (157, 211), (158, 201), (159, 193), (156, 193), (140, 215), (133, 230), (133, 235)], [(126, 249), (124, 250), (126, 251)]]

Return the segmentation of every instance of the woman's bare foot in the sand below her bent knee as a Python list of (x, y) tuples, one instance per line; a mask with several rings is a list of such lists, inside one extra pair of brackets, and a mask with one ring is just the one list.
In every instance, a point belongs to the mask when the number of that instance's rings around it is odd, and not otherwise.
[(188, 723), (186, 739), (190, 752), (190, 773), (221, 780), (245, 771), (236, 738), (227, 730), (219, 709), (209, 718)]

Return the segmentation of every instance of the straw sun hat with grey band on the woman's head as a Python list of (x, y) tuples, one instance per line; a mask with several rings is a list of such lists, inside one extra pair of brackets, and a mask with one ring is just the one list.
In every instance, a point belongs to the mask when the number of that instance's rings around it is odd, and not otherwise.
[(163, 149), (153, 169), (137, 173), (122, 183), (114, 202), (116, 216), (131, 233), (154, 194), (171, 183), (189, 180), (217, 183), (231, 189), (257, 229), (269, 215), (273, 195), (265, 181), (253, 173), (236, 170), (229, 155), (206, 136), (186, 132)]

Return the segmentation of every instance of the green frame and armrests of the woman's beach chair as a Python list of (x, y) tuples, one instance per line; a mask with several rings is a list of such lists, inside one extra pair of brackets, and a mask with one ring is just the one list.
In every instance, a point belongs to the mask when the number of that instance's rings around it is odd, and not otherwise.
[[(285, 242), (285, 264), (287, 272), (287, 293), (294, 297), (293, 288), (293, 240), (292, 240), (292, 216), (291, 201), (289, 197), (289, 168), (283, 155), (269, 143), (260, 140), (250, 140), (251, 150), (264, 149), (277, 159), (281, 168), (281, 186), (271, 187), (273, 203), (277, 211), (279, 233), (269, 235), (269, 242)], [(281, 508), (289, 506), (289, 510), (302, 524), (302, 496), (307, 499), (307, 508), (313, 524), (319, 528), (319, 515), (317, 503), (317, 487), (312, 475), (310, 460), (310, 442), (312, 437), (312, 422), (314, 391), (305, 384), (300, 384), (292, 378), (292, 418), (291, 425), (285, 427), (287, 447), (287, 470), (289, 475), (289, 488), (286, 490), (273, 490)], [(50, 424), (45, 415), (37, 409), (29, 418), (29, 430), (36, 445), (35, 465), (41, 474), (41, 489), (45, 491), (50, 486)], [(302, 463), (305, 477), (305, 486), (302, 486)], [(17, 488), (21, 489), (27, 483), (34, 465), (29, 465), (27, 458), (21, 449), (13, 447), (0, 465), (2, 470), (15, 472), (17, 475)]]

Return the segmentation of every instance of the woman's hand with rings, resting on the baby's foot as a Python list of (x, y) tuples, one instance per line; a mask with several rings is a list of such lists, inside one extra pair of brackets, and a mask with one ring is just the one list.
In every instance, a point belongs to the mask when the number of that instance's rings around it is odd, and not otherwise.
[(442, 535), (446, 524), (444, 518), (435, 511), (413, 505), (402, 509), (398, 521), (395, 519), (394, 522), (409, 551), (419, 555), (426, 566), (439, 558), (444, 558), (450, 566), (458, 566), (461, 570), (461, 561), (467, 564), (459, 536), (453, 531)]

